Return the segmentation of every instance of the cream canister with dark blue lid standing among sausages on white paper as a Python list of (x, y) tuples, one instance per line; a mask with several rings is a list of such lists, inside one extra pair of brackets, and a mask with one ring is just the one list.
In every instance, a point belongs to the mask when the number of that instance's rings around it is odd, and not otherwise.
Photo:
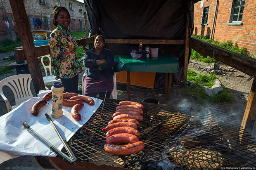
[(52, 110), (51, 115), (53, 118), (60, 118), (63, 115), (63, 91), (64, 87), (62, 83), (55, 82), (51, 88), (52, 90)]

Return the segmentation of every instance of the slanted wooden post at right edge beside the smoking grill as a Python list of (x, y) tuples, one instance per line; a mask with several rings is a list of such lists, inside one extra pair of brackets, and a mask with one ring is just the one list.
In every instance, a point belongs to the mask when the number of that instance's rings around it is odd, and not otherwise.
[(244, 111), (244, 117), (241, 124), (242, 129), (247, 130), (247, 132), (251, 134), (252, 127), (254, 126), (255, 120), (256, 120), (256, 77), (254, 77), (253, 83), (251, 85), (251, 91), (249, 94), (248, 102)]

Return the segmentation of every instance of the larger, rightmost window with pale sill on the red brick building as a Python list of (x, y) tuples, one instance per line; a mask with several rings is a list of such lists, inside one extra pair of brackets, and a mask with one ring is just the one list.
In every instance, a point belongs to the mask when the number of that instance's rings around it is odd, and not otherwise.
[(230, 21), (229, 22), (241, 22), (244, 11), (245, 0), (233, 0)]

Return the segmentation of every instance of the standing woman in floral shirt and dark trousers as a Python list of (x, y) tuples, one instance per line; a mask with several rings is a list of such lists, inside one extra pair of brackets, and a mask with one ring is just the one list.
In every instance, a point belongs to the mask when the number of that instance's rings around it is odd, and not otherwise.
[(78, 47), (71, 35), (69, 11), (55, 4), (53, 24), (57, 26), (50, 35), (50, 57), (55, 79), (60, 78), (66, 92), (78, 92), (78, 73), (82, 71), (76, 57)]

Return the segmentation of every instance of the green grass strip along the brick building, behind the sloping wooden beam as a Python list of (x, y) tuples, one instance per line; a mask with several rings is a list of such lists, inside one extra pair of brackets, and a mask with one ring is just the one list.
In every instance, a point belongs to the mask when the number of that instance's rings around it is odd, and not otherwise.
[[(204, 35), (192, 35), (192, 37), (198, 38), (199, 40), (203, 40), (203, 41), (205, 41), (207, 43), (218, 45), (218, 46), (220, 46), (222, 48), (225, 48), (227, 50), (230, 50), (232, 52), (236, 52), (238, 54), (242, 54), (242, 55), (245, 55), (245, 56), (248, 56), (248, 57), (255, 58), (255, 56), (253, 54), (250, 54), (247, 51), (246, 48), (244, 48), (244, 47), (243, 48), (238, 48), (237, 43), (235, 45), (233, 45), (232, 41), (227, 41), (227, 42), (224, 42), (224, 43), (220, 43), (217, 40), (210, 39), (209, 37), (206, 37)], [(196, 52), (193, 49), (191, 51), (190, 59), (202, 61), (202, 62), (205, 62), (205, 63), (220, 63), (220, 61), (217, 61), (216, 59), (213, 59), (213, 58), (211, 58), (209, 56), (207, 56), (207, 58), (204, 58), (201, 54), (199, 54), (198, 52)]]

